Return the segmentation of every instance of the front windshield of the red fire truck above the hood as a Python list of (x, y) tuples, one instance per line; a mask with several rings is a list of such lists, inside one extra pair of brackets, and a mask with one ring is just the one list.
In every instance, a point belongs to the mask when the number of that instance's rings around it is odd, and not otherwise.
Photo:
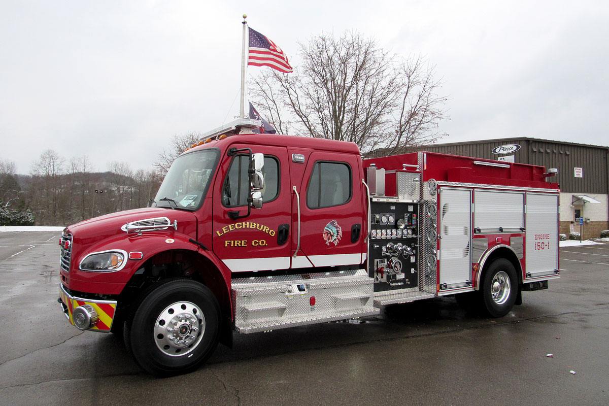
[(216, 149), (206, 149), (178, 156), (171, 164), (155, 203), (159, 207), (196, 210), (209, 187), (218, 159)]

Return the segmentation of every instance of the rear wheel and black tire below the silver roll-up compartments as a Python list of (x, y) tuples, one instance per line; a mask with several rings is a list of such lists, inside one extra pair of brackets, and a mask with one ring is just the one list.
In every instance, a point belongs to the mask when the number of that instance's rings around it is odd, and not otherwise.
[(518, 278), (512, 262), (498, 258), (482, 275), (482, 308), (491, 317), (504, 317), (512, 310), (518, 294)]

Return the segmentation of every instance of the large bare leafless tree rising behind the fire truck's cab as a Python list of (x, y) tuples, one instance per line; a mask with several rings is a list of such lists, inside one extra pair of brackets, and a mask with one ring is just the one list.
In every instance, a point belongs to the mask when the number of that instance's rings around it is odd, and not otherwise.
[(300, 44), (294, 74), (263, 71), (252, 96), (280, 133), (351, 141), (362, 152), (433, 142), (443, 136), (445, 97), (434, 66), (400, 60), (359, 33), (322, 33)]

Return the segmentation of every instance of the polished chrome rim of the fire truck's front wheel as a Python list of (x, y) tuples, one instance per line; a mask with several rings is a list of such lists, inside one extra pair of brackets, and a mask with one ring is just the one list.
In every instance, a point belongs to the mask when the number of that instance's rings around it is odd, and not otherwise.
[(205, 316), (200, 307), (191, 302), (175, 302), (157, 317), (154, 340), (158, 349), (170, 357), (181, 357), (192, 352), (205, 333)]

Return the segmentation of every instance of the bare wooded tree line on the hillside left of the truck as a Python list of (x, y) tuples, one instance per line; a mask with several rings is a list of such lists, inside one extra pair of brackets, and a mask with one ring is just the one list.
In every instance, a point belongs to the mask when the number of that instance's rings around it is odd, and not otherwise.
[(66, 160), (54, 150), (41, 153), (28, 175), (0, 159), (0, 225), (69, 225), (146, 207), (161, 180), (154, 170), (119, 161), (95, 172), (87, 156)]

